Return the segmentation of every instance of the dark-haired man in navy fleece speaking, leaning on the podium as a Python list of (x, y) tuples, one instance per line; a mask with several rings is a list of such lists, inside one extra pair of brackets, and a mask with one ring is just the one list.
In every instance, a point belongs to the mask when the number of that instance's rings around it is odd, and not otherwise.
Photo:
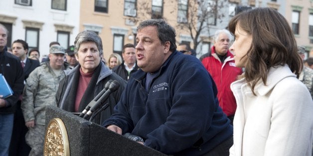
[(140, 70), (103, 126), (141, 137), (141, 144), (167, 155), (229, 156), (233, 129), (216, 85), (197, 58), (176, 51), (175, 36), (163, 19), (139, 24)]

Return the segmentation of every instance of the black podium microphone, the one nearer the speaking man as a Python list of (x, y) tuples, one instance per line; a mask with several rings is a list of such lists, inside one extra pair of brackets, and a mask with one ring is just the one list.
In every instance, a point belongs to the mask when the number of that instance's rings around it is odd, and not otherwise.
[(120, 82), (117, 80), (114, 80), (110, 83), (109, 89), (97, 100), (97, 102), (90, 107), (88, 112), (85, 114), (84, 119), (86, 119), (88, 116), (90, 116), (96, 109), (100, 107), (100, 105), (106, 101), (110, 94), (117, 90), (120, 87)]

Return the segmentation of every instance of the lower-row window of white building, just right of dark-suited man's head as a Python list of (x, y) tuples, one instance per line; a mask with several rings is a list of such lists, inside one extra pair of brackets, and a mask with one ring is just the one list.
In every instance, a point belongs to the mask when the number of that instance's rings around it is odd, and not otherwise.
[(26, 27), (26, 39), (29, 49), (39, 47), (39, 29)]

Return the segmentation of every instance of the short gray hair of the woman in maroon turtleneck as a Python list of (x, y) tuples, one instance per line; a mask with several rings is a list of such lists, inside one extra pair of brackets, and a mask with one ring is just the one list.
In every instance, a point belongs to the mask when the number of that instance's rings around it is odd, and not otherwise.
[(103, 46), (102, 46), (102, 40), (100, 36), (97, 33), (93, 31), (89, 31), (89, 30), (84, 30), (78, 33), (78, 35), (76, 36), (75, 42), (74, 42), (74, 45), (75, 45), (74, 54), (75, 55), (77, 55), (80, 45), (85, 42), (95, 42), (99, 49), (100, 56), (102, 55)]

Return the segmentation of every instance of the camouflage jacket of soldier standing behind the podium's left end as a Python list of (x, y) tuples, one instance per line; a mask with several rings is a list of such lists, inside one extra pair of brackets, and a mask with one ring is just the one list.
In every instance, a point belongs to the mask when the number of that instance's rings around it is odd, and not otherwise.
[[(66, 67), (62, 67), (64, 70)], [(49, 62), (32, 71), (26, 80), (22, 99), (22, 112), (25, 122), (35, 120), (37, 125), (45, 125), (45, 107), (55, 104), (55, 94), (64, 72), (56, 76)]]

